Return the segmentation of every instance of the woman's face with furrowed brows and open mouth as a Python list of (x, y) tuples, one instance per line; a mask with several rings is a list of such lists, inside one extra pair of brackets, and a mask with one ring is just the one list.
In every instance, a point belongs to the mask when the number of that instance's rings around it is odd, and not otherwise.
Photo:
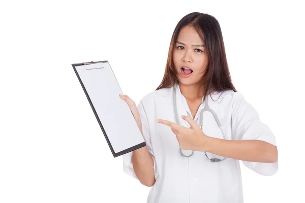
[[(201, 83), (207, 65), (205, 44), (192, 26), (182, 28), (174, 45), (173, 62), (180, 83), (191, 85)], [(189, 67), (191, 70), (181, 69)], [(183, 72), (182, 72), (183, 71)]]

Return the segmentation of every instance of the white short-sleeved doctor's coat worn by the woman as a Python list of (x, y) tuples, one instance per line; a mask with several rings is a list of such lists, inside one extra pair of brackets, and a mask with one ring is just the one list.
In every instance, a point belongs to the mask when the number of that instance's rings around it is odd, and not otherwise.
[[(191, 157), (183, 157), (179, 144), (170, 127), (156, 123), (156, 119), (175, 122), (172, 88), (163, 88), (146, 94), (138, 105), (143, 137), (153, 156), (156, 183), (147, 197), (148, 203), (242, 203), (242, 181), (239, 160), (227, 158), (210, 162), (204, 152), (194, 151)], [(263, 124), (258, 112), (239, 92), (224, 91), (207, 96), (209, 108), (218, 116), (227, 140), (262, 140), (276, 146), (276, 139), (269, 127)], [(181, 115), (192, 117), (186, 98), (176, 83), (177, 111), (180, 125), (190, 127)], [(203, 99), (202, 99), (203, 101)], [(199, 124), (199, 107), (195, 121)], [(203, 131), (207, 136), (221, 138), (222, 133), (214, 117), (203, 113)], [(223, 158), (207, 153), (209, 158)], [(137, 179), (131, 161), (132, 152), (123, 155), (126, 174)], [(278, 171), (275, 163), (242, 161), (254, 172), (271, 176)]]

